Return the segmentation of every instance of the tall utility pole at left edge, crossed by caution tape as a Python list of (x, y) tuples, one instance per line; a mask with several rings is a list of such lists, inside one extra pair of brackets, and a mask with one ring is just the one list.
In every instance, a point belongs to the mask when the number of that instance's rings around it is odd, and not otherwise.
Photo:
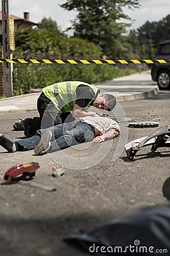
[[(8, 0), (2, 0), (2, 43), (3, 59), (12, 59), (9, 33), (9, 4)], [(12, 96), (12, 67), (11, 63), (3, 63), (3, 82), (6, 97)]]

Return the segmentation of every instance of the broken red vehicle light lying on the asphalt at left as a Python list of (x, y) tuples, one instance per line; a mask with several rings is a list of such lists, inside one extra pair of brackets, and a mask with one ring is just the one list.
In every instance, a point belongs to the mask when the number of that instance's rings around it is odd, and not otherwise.
[(35, 162), (17, 164), (5, 172), (4, 179), (9, 181), (33, 179), (38, 168), (40, 168), (39, 163)]

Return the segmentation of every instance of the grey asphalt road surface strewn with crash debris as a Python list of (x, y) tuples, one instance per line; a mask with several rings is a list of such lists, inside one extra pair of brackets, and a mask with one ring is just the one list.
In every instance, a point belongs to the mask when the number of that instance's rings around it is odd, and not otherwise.
[[(159, 93), (150, 100), (121, 102), (121, 106), (128, 118), (158, 121), (159, 127), (170, 124), (170, 92)], [(22, 138), (23, 131), (12, 130), (12, 125), (18, 118), (35, 115), (36, 112), (0, 115), (1, 133), (14, 140)], [(128, 142), (155, 130), (129, 128)], [(9, 154), (1, 147), (1, 179), (15, 164), (39, 162), (40, 168), (32, 182), (57, 189), (46, 192), (20, 184), (0, 185), (1, 255), (88, 255), (65, 243), (63, 238), (75, 228), (91, 230), (135, 209), (167, 202), (170, 199), (168, 148), (156, 152), (151, 152), (150, 147), (143, 148), (133, 162), (127, 161), (123, 151), (113, 162), (117, 144), (118, 138), (96, 166), (87, 170), (65, 168), (65, 174), (59, 178), (51, 175), (56, 163), (48, 155), (35, 156), (33, 151)], [(86, 151), (92, 154), (98, 147), (93, 144)], [(79, 157), (87, 154), (75, 148), (65, 152), (66, 162), (72, 154)]]

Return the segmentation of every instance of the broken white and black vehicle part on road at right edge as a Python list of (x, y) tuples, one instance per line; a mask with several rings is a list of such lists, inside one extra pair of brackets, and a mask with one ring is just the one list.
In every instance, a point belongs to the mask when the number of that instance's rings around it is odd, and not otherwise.
[(159, 147), (170, 147), (170, 142), (167, 141), (169, 137), (170, 126), (165, 125), (150, 134), (148, 137), (142, 137), (127, 143), (125, 150), (128, 160), (133, 160), (137, 151), (141, 150), (142, 147), (152, 145), (151, 151), (156, 151)]

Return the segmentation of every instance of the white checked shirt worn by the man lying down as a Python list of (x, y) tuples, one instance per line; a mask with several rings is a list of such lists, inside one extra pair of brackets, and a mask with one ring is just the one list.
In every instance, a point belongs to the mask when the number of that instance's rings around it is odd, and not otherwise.
[(76, 119), (76, 121), (93, 126), (99, 130), (101, 134), (105, 134), (109, 130), (116, 130), (118, 133), (120, 133), (120, 126), (118, 123), (108, 117), (100, 117), (99, 115), (96, 115), (95, 117), (79, 117)]

